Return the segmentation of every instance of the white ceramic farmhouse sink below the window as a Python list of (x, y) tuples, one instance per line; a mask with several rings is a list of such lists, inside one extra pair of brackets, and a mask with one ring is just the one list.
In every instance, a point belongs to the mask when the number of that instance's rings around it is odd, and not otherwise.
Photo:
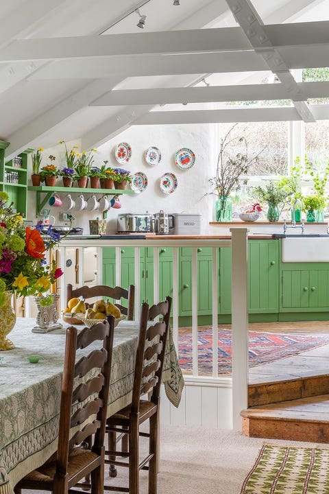
[(282, 262), (329, 262), (329, 235), (282, 238)]

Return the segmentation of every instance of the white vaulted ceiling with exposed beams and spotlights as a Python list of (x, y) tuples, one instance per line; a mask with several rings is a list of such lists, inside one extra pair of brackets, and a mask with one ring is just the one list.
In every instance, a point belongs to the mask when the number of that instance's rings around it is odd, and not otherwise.
[(8, 158), (132, 125), (329, 119), (308, 103), (329, 82), (291, 73), (329, 67), (329, 0), (2, 0), (0, 23)]

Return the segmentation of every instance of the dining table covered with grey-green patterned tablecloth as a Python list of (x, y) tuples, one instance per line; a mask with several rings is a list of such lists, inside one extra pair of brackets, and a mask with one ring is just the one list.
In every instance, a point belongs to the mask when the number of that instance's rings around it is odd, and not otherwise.
[[(69, 324), (34, 333), (36, 320), (17, 318), (10, 333), (15, 348), (0, 357), (0, 494), (40, 467), (57, 449), (65, 334)], [(83, 328), (84, 326), (77, 326)], [(108, 416), (130, 403), (139, 322), (121, 320), (114, 329)], [(37, 355), (38, 362), (30, 362)], [(77, 352), (77, 358), (83, 351)], [(0, 359), (1, 360), (1, 359)], [(170, 330), (162, 374), (168, 399), (178, 407), (184, 379)]]

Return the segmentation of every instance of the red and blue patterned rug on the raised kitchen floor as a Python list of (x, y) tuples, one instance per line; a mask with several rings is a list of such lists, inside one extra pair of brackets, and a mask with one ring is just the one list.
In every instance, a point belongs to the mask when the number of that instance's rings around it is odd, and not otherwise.
[[(267, 364), (296, 353), (329, 344), (328, 334), (295, 335), (258, 333), (249, 331), (249, 367)], [(199, 373), (212, 373), (212, 329), (199, 331), (197, 338)], [(192, 335), (184, 333), (178, 338), (178, 353), (182, 371), (192, 371)], [(232, 332), (218, 330), (218, 373), (232, 372)], [(329, 491), (328, 491), (329, 493)]]

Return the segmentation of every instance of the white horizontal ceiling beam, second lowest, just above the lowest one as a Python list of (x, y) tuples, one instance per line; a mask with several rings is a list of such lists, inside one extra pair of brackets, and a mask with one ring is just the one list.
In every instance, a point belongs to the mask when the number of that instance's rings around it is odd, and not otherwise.
[[(300, 82), (307, 99), (329, 97), (329, 82)], [(230, 86), (114, 90), (97, 98), (89, 106), (155, 105), (292, 99), (282, 84), (240, 84)]]

